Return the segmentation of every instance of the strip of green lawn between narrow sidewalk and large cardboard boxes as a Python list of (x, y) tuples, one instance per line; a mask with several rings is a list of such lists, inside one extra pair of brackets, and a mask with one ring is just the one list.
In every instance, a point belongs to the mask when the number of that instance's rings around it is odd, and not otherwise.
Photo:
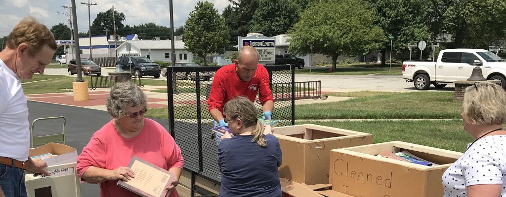
[(374, 143), (402, 141), (463, 152), (466, 145), (473, 142), (473, 138), (462, 129), (462, 120), (297, 122), (307, 123), (369, 133), (373, 135)]

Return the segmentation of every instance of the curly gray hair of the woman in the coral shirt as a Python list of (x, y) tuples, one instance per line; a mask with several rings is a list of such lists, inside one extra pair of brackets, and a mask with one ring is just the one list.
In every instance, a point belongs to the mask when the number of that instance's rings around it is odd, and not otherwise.
[(114, 118), (119, 119), (126, 115), (126, 106), (137, 107), (144, 105), (147, 108), (146, 95), (132, 82), (120, 82), (111, 87), (111, 93), (107, 98), (107, 112)]

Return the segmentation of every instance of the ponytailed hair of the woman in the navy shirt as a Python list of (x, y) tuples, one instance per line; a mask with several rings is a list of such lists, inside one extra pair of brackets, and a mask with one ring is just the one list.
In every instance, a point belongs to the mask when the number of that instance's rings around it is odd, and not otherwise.
[(251, 142), (257, 142), (258, 145), (265, 147), (267, 142), (264, 137), (264, 126), (257, 119), (257, 107), (246, 97), (238, 96), (225, 103), (223, 112), (230, 116), (229, 119), (239, 118), (242, 120), (244, 126), (250, 127), (255, 126), (253, 131), (253, 140)]

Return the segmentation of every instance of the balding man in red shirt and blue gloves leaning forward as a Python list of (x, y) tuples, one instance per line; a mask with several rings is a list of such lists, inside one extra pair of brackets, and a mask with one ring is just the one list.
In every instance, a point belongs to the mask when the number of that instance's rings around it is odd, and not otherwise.
[(269, 73), (258, 63), (257, 49), (243, 46), (237, 53), (234, 63), (220, 68), (213, 80), (207, 104), (209, 114), (215, 119), (215, 126), (228, 126), (223, 117), (223, 106), (236, 96), (246, 96), (254, 102), (257, 93), (262, 104), (262, 115), (271, 119), (274, 98), (269, 89)]

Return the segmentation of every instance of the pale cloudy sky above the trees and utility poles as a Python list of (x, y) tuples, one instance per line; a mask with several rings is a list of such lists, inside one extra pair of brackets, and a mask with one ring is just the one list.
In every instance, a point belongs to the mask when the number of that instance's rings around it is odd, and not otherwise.
[[(173, 0), (174, 26), (184, 25), (191, 11), (199, 0)], [(84, 1), (75, 0), (77, 10), (77, 24), (79, 32), (88, 32), (88, 6), (82, 5)], [(229, 4), (228, 0), (208, 0), (215, 4), (215, 9), (221, 13)], [(85, 3), (88, 3), (86, 1)], [(100, 0), (90, 1), (96, 6), (90, 7), (91, 23), (100, 12), (105, 12), (114, 6), (114, 10), (122, 12), (126, 20), (124, 25), (139, 25), (154, 22), (158, 25), (170, 27), (170, 12), (168, 0)], [(69, 13), (62, 6), (70, 6), (70, 0), (0, 0), (0, 37), (9, 35), (14, 26), (25, 16), (32, 16), (49, 29), (56, 24), (68, 25)], [(109, 32), (109, 35), (112, 32)], [(105, 35), (105, 33), (104, 33)]]

